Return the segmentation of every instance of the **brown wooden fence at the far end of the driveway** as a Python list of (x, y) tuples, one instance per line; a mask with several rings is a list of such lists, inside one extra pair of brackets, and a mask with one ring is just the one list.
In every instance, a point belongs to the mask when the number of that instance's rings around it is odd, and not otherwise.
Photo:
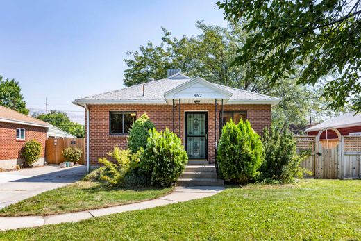
[(59, 164), (65, 161), (62, 150), (67, 147), (76, 147), (83, 152), (79, 164), (85, 164), (85, 138), (49, 138), (45, 144), (47, 163)]

